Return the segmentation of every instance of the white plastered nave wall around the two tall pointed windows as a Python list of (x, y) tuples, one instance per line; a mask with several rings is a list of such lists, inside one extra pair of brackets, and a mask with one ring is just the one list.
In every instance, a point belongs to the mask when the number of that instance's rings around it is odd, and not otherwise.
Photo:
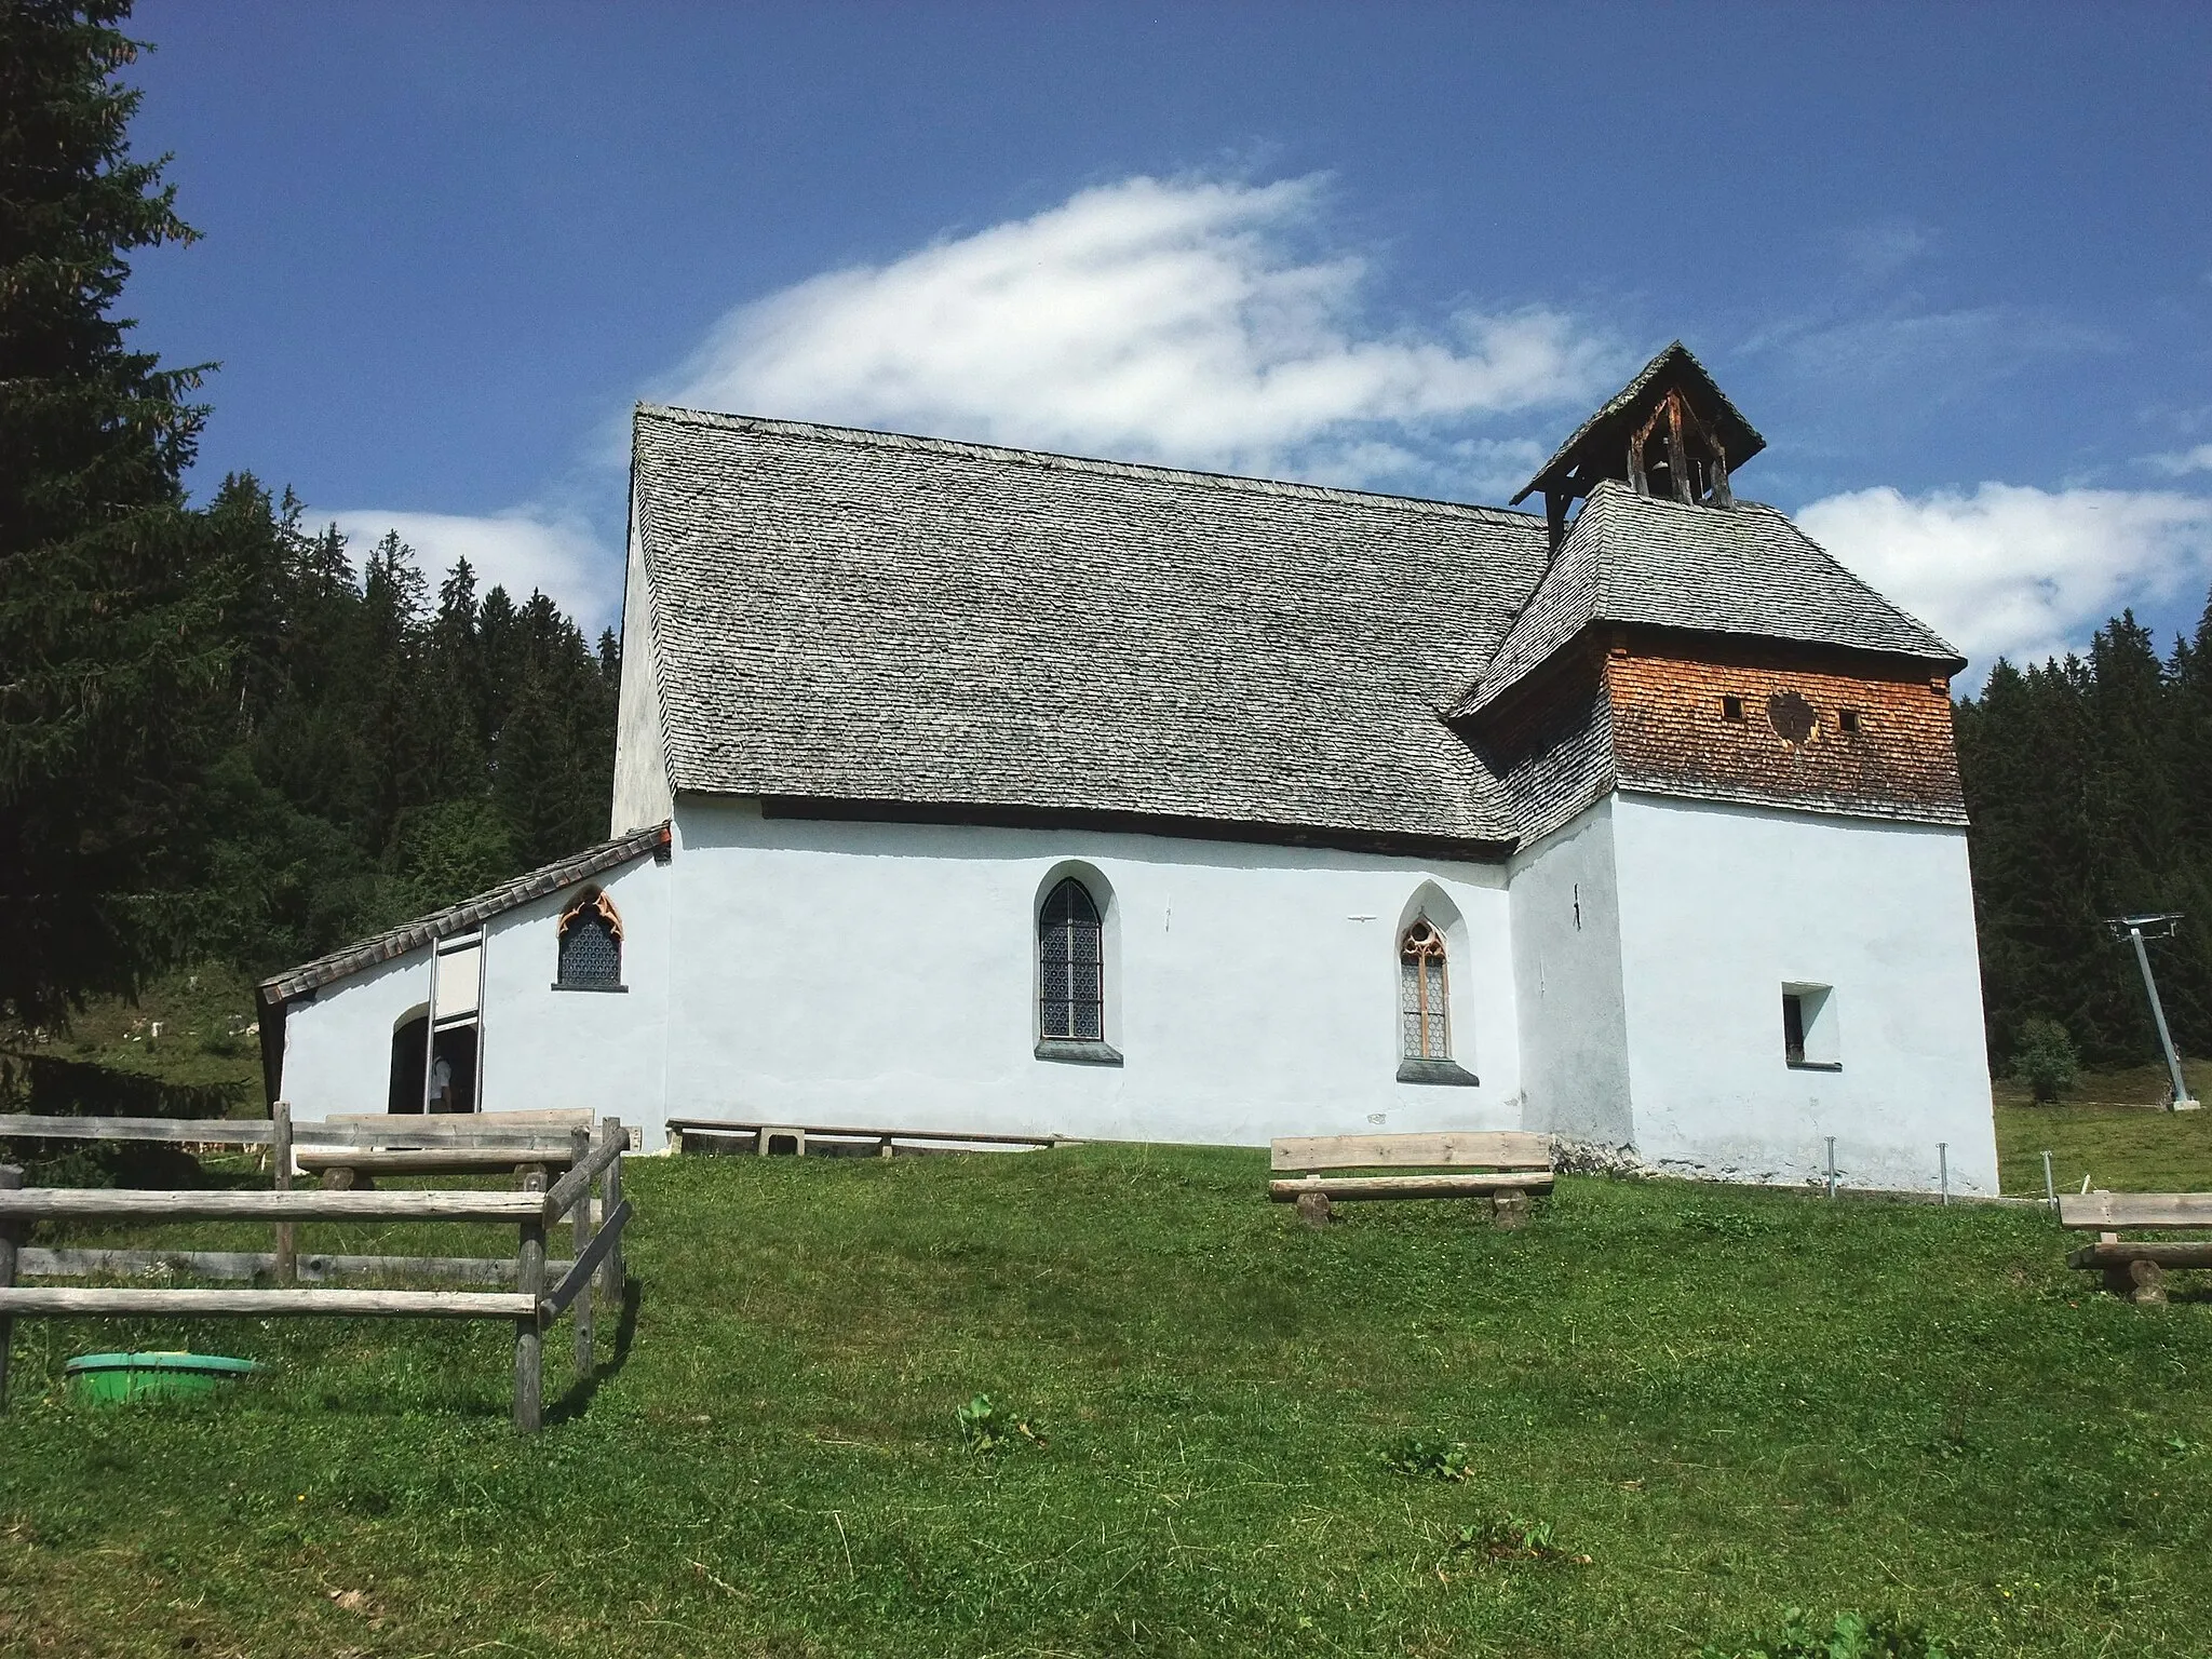
[[(1121, 1066), (1035, 1057), (1035, 902), (1104, 878)], [(1263, 1144), (1517, 1128), (1504, 869), (1082, 830), (818, 823), (677, 803), (668, 1113)], [(1453, 1057), (1400, 1084), (1394, 925), (1464, 918)]]

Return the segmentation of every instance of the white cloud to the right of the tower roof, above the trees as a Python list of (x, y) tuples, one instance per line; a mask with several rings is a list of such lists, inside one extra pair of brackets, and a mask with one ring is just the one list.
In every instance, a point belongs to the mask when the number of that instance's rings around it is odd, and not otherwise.
[(1973, 659), (2084, 650), (2126, 606), (2203, 593), (2212, 498), (1980, 484), (1909, 498), (1829, 495), (1796, 515), (1854, 573)]

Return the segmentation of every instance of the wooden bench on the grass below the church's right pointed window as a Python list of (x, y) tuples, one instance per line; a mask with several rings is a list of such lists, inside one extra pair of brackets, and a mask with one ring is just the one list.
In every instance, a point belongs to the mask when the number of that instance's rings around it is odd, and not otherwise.
[[(1551, 1135), (1517, 1128), (1440, 1135), (1292, 1135), (1270, 1148), (1274, 1203), (1296, 1203), (1310, 1228), (1329, 1223), (1334, 1199), (1491, 1199), (1500, 1228), (1528, 1219), (1528, 1194), (1551, 1192)], [(1455, 1170), (1455, 1175), (1325, 1175), (1325, 1170)]]

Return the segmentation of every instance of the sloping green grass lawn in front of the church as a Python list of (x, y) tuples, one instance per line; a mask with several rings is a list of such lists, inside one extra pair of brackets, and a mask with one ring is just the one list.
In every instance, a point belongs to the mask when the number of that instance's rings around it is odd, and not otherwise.
[[(2095, 1294), (2033, 1210), (1686, 1183), (1314, 1234), (1263, 1161), (637, 1159), (622, 1352), (531, 1442), (489, 1325), (24, 1321), (0, 1652), (2208, 1650), (2212, 1301)], [(60, 1400), (186, 1340), (276, 1371)], [(978, 1391), (1046, 1444), (969, 1451)], [(1502, 1517), (1588, 1564), (1462, 1544)]]

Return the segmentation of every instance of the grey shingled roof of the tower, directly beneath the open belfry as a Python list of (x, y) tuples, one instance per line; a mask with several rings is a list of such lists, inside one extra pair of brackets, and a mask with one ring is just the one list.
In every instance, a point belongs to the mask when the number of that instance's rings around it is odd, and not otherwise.
[(1495, 703), (1593, 622), (1874, 650), (1947, 675), (1966, 666), (1776, 509), (1692, 507), (1606, 480), (1498, 657), (1451, 712)]

